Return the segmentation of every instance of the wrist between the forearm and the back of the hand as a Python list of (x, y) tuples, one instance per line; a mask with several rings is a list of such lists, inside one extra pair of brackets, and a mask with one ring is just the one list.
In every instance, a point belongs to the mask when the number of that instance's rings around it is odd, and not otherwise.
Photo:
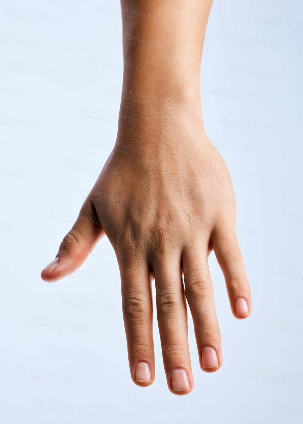
[(120, 114), (132, 119), (129, 123), (119, 121), (116, 153), (127, 153), (127, 160), (153, 163), (159, 155), (166, 157), (189, 148), (199, 150), (203, 145), (206, 135), (200, 102), (188, 100), (178, 104), (168, 98), (161, 102), (157, 97), (135, 102), (127, 98), (135, 98), (136, 93), (129, 94), (132, 96), (125, 95), (126, 100), (121, 101)]

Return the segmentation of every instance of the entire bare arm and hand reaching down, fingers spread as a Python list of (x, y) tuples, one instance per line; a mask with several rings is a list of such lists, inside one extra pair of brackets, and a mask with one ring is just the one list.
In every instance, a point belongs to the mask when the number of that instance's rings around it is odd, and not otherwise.
[(210, 251), (224, 274), (233, 315), (243, 319), (251, 312), (232, 183), (202, 121), (200, 61), (211, 1), (123, 0), (122, 6), (159, 20), (123, 17), (124, 94), (115, 148), (61, 243), (59, 259), (41, 276), (55, 282), (73, 273), (106, 235), (121, 273), (132, 380), (145, 387), (155, 377), (155, 279), (167, 384), (184, 395), (194, 388), (186, 303), (202, 370), (222, 365)]

